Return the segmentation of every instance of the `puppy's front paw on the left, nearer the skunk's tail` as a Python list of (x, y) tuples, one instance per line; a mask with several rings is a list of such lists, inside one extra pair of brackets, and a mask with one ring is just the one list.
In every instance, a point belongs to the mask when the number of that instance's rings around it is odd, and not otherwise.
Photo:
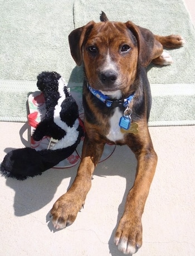
[(51, 209), (52, 223), (54, 228), (63, 229), (74, 223), (77, 213), (81, 210), (84, 202), (78, 195), (67, 192), (62, 195)]

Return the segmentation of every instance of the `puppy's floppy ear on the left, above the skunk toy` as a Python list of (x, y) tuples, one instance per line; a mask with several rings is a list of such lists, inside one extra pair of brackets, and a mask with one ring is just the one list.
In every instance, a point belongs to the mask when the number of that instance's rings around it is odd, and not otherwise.
[(71, 55), (78, 66), (82, 64), (82, 45), (94, 24), (94, 21), (90, 21), (87, 25), (72, 31), (69, 35)]

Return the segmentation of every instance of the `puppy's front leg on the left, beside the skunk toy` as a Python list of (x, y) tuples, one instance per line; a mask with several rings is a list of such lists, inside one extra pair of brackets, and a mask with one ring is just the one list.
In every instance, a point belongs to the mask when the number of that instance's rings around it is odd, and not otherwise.
[(87, 135), (82, 148), (81, 163), (70, 189), (62, 195), (51, 209), (53, 226), (65, 228), (71, 225), (85, 203), (85, 198), (91, 187), (91, 176), (103, 153), (104, 143), (90, 141)]

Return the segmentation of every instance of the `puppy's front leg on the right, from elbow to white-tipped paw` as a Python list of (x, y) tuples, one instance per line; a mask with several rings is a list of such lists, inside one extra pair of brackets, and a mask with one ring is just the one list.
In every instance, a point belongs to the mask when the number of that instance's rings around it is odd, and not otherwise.
[[(143, 139), (144, 138), (144, 139)], [(124, 214), (115, 234), (115, 244), (125, 254), (133, 254), (142, 246), (142, 214), (152, 182), (157, 154), (147, 131), (133, 139), (129, 146), (138, 160), (136, 177), (126, 198)]]

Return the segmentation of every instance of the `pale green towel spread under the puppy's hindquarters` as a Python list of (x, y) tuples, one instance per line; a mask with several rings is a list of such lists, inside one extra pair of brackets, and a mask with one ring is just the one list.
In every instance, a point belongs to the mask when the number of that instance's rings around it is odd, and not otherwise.
[(173, 64), (148, 67), (153, 105), (149, 125), (195, 124), (195, 31), (183, 0), (7, 0), (0, 9), (0, 120), (26, 122), (27, 96), (42, 71), (60, 73), (68, 86), (82, 82), (68, 36), (101, 11), (109, 20), (133, 21), (159, 35), (179, 34)]

